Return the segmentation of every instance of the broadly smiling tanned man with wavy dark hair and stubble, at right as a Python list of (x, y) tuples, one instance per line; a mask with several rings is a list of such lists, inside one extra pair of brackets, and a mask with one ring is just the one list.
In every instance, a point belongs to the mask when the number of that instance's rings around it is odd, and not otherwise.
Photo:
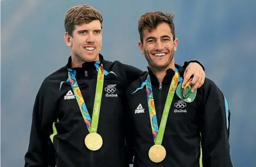
[(127, 89), (127, 150), (134, 151), (134, 167), (200, 166), (201, 148), (204, 167), (233, 166), (227, 100), (208, 78), (194, 92), (191, 80), (182, 88), (173, 18), (163, 12), (140, 16), (139, 48), (149, 72)]

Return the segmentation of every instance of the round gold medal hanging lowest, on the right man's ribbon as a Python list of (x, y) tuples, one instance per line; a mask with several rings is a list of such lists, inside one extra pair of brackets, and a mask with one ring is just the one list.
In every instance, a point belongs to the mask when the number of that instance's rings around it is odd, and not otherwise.
[(151, 161), (159, 163), (166, 158), (166, 149), (163, 145), (153, 145), (149, 149), (149, 158)]

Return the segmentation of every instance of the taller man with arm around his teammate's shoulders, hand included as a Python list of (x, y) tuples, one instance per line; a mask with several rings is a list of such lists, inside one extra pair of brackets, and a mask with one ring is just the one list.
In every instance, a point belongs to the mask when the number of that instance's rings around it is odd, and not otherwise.
[[(65, 42), (71, 56), (44, 79), (36, 95), (25, 166), (127, 165), (124, 95), (142, 71), (103, 59), (102, 23), (102, 14), (89, 5), (66, 13)], [(203, 68), (197, 63), (188, 67), (188, 77), (203, 83)]]

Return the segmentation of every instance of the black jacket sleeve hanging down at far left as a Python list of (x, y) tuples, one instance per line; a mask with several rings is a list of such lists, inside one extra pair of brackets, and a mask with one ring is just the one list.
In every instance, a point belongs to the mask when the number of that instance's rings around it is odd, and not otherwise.
[(46, 106), (50, 105), (48, 104), (50, 99), (47, 99), (49, 97), (45, 96), (42, 87), (36, 95), (33, 107), (29, 147), (25, 154), (25, 167), (55, 166), (55, 153), (53, 144), (49, 139), (50, 120), (52, 120), (49, 113), (52, 111), (48, 110), (53, 106)]

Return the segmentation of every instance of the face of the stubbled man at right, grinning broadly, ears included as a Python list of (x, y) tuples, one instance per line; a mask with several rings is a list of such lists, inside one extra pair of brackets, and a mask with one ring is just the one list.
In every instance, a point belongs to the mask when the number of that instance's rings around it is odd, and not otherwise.
[(174, 51), (178, 39), (173, 40), (168, 23), (162, 22), (156, 28), (143, 30), (143, 43), (139, 42), (140, 51), (145, 55), (149, 68), (174, 68)]

